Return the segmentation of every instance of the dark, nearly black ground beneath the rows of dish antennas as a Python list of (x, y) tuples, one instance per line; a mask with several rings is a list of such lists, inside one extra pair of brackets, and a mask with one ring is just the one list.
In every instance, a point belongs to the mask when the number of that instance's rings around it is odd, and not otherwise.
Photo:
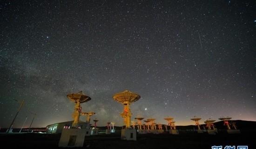
[[(0, 133), (1, 149), (65, 149), (59, 147), (61, 134), (46, 133)], [(136, 134), (136, 141), (121, 140), (120, 133), (86, 136), (83, 147), (78, 149), (213, 149), (212, 146), (248, 146), (256, 149), (255, 130), (241, 131), (240, 134), (225, 132), (209, 135), (208, 133), (181, 132), (178, 135)], [(70, 148), (68, 148), (70, 149)], [(215, 148), (216, 149), (216, 148)], [(229, 148), (227, 148), (229, 149)]]

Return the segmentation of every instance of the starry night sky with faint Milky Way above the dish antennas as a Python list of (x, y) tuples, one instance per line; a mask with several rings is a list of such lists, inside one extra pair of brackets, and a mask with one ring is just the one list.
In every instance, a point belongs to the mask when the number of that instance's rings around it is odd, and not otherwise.
[(80, 91), (91, 124), (122, 126), (125, 90), (131, 120), (256, 121), (255, 0), (0, 2), (0, 127), (23, 100), (13, 128), (73, 121)]

